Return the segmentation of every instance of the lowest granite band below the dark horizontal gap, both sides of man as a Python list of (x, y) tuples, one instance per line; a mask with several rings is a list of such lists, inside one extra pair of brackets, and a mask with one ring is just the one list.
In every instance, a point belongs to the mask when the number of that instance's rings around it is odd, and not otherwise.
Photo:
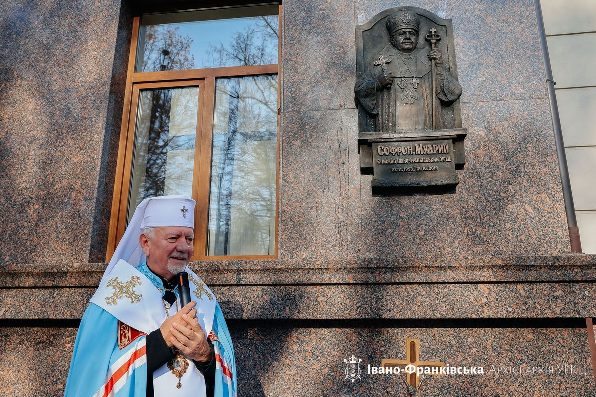
[[(238, 395), (405, 395), (398, 375), (368, 374), (383, 358), (404, 360), (405, 340), (420, 340), (420, 359), (482, 367), (484, 374), (427, 376), (423, 396), (593, 397), (587, 334), (574, 328), (289, 328), (231, 327)], [(0, 392), (5, 397), (61, 395), (75, 343), (73, 328), (0, 328)], [(362, 360), (361, 378), (345, 379), (344, 359)], [(33, 367), (23, 362), (35, 362)], [(23, 370), (16, 371), (21, 367)], [(534, 368), (540, 368), (534, 369)], [(552, 371), (550, 368), (552, 367)], [(515, 368), (515, 369), (514, 369)], [(520, 373), (520, 368), (524, 372)], [(531, 371), (527, 371), (530, 368)], [(546, 368), (546, 369), (545, 369)], [(504, 371), (510, 371), (505, 374)], [(516, 370), (512, 374), (511, 371)]]

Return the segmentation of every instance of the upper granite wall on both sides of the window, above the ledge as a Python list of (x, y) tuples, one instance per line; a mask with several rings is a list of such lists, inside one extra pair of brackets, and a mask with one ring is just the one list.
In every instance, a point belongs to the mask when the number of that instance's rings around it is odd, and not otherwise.
[[(373, 195), (359, 173), (354, 26), (398, 5), (284, 2), (280, 258), (569, 252), (532, 0), (409, 2), (454, 20), (467, 165), (455, 194)], [(130, 11), (0, 7), (2, 263), (103, 260)]]

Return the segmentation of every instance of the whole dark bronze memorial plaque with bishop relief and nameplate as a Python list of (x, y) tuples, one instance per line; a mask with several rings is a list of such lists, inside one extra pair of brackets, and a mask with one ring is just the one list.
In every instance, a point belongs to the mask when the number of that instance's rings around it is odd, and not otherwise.
[[(373, 173), (373, 187), (457, 185), (467, 129), (452, 21), (416, 7), (380, 12), (356, 26), (356, 77), (360, 162), (363, 173)], [(423, 152), (426, 146), (449, 152), (431, 164), (435, 153)], [(405, 160), (411, 164), (390, 167)]]

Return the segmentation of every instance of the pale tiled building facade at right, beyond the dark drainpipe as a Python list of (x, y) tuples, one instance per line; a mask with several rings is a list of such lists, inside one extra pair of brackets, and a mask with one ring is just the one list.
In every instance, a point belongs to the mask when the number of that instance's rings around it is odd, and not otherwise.
[(591, 170), (596, 161), (596, 124), (591, 109), (596, 89), (591, 73), (595, 60), (589, 57), (596, 46), (596, 5), (554, 0), (542, 0), (541, 4), (582, 251), (594, 254), (596, 197)]

